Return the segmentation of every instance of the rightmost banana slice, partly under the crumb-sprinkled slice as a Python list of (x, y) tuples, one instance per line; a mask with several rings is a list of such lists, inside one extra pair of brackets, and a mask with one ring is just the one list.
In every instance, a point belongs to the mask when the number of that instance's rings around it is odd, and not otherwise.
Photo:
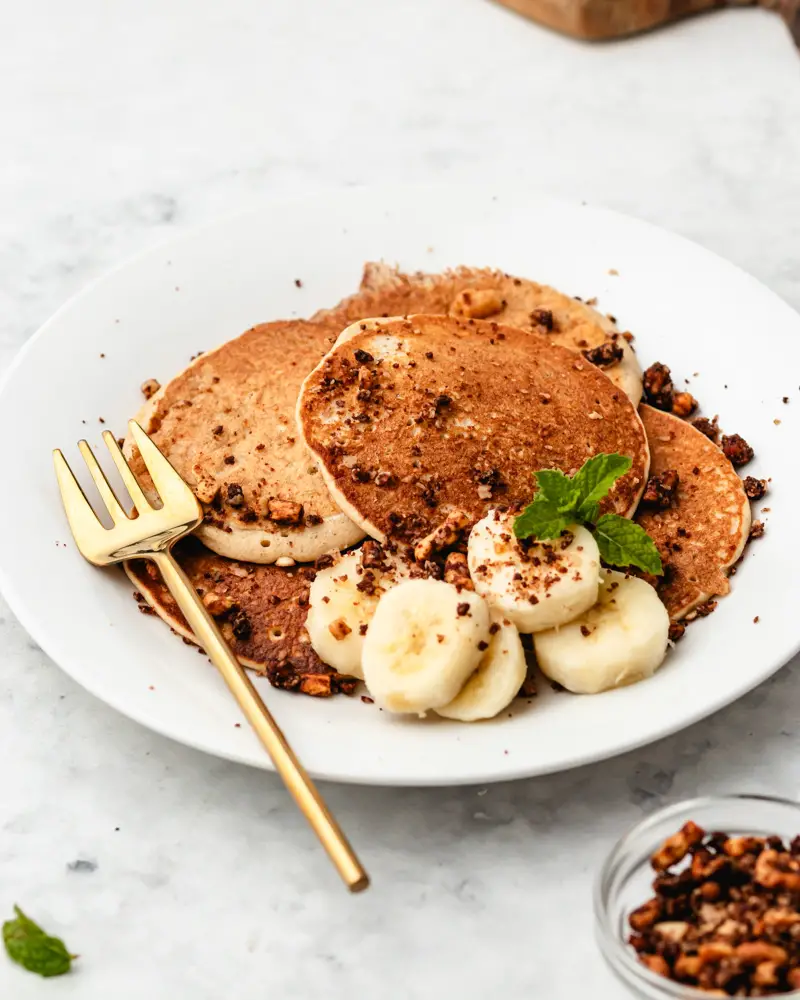
[(547, 677), (597, 694), (651, 677), (667, 652), (669, 615), (649, 583), (604, 570), (597, 604), (568, 625), (533, 637)]

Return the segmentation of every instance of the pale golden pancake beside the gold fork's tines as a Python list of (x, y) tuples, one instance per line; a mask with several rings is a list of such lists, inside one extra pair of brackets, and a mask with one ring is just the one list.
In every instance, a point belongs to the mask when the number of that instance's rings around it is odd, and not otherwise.
[[(311, 562), (362, 532), (336, 506), (294, 425), (303, 379), (339, 329), (254, 326), (161, 388), (139, 421), (203, 504), (198, 537), (232, 559)], [(126, 453), (135, 449), (126, 441)], [(138, 453), (133, 469), (145, 483)]]

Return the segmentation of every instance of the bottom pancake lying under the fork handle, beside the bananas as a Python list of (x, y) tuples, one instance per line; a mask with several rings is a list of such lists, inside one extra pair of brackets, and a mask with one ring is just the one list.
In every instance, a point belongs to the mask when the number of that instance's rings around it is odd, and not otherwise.
[[(350, 694), (355, 681), (320, 660), (306, 632), (310, 566), (244, 566), (186, 538), (172, 550), (197, 592), (214, 614), (233, 652), (246, 666), (266, 675), (275, 687), (304, 694)], [(136, 559), (125, 572), (172, 629), (195, 642), (175, 598), (155, 564)]]

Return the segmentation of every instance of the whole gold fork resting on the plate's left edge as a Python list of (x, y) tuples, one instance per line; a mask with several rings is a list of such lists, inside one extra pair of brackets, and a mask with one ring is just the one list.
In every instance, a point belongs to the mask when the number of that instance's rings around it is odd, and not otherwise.
[(135, 517), (128, 517), (123, 510), (86, 441), (78, 443), (94, 484), (111, 515), (114, 526), (110, 529), (103, 527), (98, 520), (61, 450), (56, 448), (53, 452), (61, 499), (81, 555), (95, 566), (108, 566), (124, 559), (137, 558), (152, 559), (155, 562), (192, 632), (219, 668), (248, 722), (272, 758), (276, 771), (283, 778), (348, 889), (351, 892), (366, 889), (369, 876), (347, 838), (170, 551), (179, 538), (194, 531), (200, 524), (203, 519), (202, 507), (139, 424), (131, 420), (129, 427), (162, 501), (162, 506), (158, 508), (150, 504), (114, 435), (105, 431), (103, 440), (133, 501)]

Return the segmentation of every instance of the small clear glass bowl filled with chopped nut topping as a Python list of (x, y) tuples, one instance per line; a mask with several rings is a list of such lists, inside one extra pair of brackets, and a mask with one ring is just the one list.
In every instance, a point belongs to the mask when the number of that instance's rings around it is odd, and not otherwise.
[(594, 909), (635, 996), (800, 998), (800, 803), (726, 795), (648, 816), (611, 850)]

